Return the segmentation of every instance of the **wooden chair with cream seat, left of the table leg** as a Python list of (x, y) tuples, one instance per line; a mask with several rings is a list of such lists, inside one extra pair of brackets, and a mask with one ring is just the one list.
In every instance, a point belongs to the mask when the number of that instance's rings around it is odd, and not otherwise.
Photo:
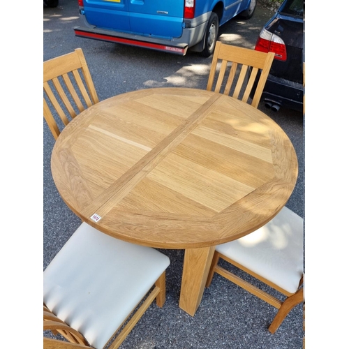
[(119, 348), (154, 299), (165, 303), (168, 265), (154, 248), (82, 223), (43, 272), (44, 329), (96, 349), (116, 336), (109, 348)]

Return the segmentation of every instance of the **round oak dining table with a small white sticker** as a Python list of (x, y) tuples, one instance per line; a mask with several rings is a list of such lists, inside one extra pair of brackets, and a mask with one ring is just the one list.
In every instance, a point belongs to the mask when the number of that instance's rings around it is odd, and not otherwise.
[(215, 246), (276, 216), (298, 163), (285, 132), (255, 107), (158, 88), (81, 112), (54, 144), (51, 169), (82, 221), (126, 242), (185, 250), (179, 307), (193, 316)]

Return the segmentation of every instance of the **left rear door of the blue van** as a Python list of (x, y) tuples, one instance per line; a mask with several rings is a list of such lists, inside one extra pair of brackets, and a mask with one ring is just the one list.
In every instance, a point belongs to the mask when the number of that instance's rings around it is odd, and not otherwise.
[(131, 31), (128, 20), (130, 0), (84, 0), (85, 17), (100, 29)]

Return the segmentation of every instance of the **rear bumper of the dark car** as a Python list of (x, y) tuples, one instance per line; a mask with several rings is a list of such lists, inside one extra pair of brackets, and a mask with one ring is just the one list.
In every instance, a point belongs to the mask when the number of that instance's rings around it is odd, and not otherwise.
[(303, 112), (303, 84), (269, 74), (261, 101)]

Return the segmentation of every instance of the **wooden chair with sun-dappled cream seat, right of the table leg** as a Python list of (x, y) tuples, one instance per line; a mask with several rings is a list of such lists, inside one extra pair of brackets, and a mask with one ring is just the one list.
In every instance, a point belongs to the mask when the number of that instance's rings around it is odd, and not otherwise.
[[(262, 228), (216, 246), (206, 287), (217, 273), (279, 309), (269, 325), (269, 332), (274, 334), (290, 310), (304, 302), (303, 253), (303, 218), (283, 207)], [(237, 276), (239, 269), (221, 267), (218, 265), (220, 258), (281, 292), (281, 295), (273, 290), (261, 290), (252, 284), (253, 281), (247, 282), (244, 276)]]

